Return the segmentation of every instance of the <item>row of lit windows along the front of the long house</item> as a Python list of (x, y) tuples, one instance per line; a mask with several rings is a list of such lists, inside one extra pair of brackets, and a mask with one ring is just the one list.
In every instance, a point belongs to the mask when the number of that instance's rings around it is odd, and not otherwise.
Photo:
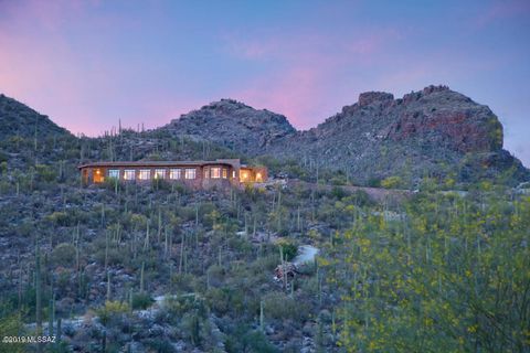
[[(210, 171), (210, 175), (208, 174)], [(135, 180), (136, 173), (138, 172), (139, 180), (149, 180), (151, 179), (151, 170), (150, 169), (126, 169), (124, 170), (124, 180)], [(155, 169), (155, 179), (166, 179), (167, 169)], [(232, 172), (233, 178), (235, 178), (235, 171)], [(210, 169), (204, 169), (204, 179), (226, 179), (229, 175), (229, 171), (226, 168), (213, 167)], [(169, 170), (169, 179), (178, 180), (178, 179), (188, 179), (192, 180), (197, 178), (197, 169), (194, 168), (186, 168), (186, 169), (170, 169)], [(119, 169), (109, 169), (108, 170), (108, 178), (116, 178), (119, 179)]]

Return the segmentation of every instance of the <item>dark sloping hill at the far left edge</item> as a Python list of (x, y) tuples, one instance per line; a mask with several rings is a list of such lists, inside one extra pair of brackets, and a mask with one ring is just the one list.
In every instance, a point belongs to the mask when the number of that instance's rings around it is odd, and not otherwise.
[(54, 135), (70, 132), (54, 124), (45, 115), (41, 115), (26, 105), (0, 94), (0, 140), (18, 136), (21, 138), (45, 139)]

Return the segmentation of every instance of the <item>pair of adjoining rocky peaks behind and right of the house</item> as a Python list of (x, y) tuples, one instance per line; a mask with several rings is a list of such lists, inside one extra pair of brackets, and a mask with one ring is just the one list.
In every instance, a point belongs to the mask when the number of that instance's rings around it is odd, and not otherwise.
[(193, 110), (160, 130), (252, 156), (342, 170), (360, 183), (391, 175), (407, 184), (425, 175), (464, 182), (530, 178), (521, 162), (502, 149), (497, 116), (446, 86), (428, 86), (399, 99), (389, 93), (363, 93), (358, 103), (308, 131), (296, 131), (282, 115), (232, 99)]

